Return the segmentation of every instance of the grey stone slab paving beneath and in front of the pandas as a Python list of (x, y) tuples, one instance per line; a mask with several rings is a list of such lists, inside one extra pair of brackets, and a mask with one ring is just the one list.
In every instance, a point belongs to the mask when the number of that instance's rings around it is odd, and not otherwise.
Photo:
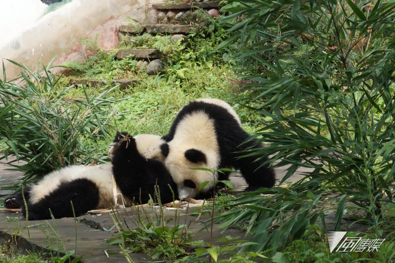
[[(10, 168), (4, 163), (0, 162), (0, 186), (12, 185), (15, 181), (22, 176), (20, 172), (7, 171)], [(286, 182), (295, 182), (301, 178), (301, 174), (307, 170), (301, 169), (295, 175), (286, 180)], [(283, 169), (276, 169), (277, 180), (281, 180), (286, 174), (286, 167)], [(232, 174), (231, 181), (237, 190), (242, 190), (246, 187), (246, 183), (240, 174)], [(0, 190), (0, 202), (3, 200), (1, 196), (10, 194), (10, 190)], [(146, 214), (148, 217), (155, 218), (159, 214), (159, 207), (145, 206)], [(203, 214), (197, 218), (192, 214), (192, 211), (199, 210), (199, 207), (180, 209), (179, 222), (180, 224), (187, 224), (189, 232), (192, 233), (193, 240), (209, 241), (210, 233), (208, 230), (199, 231), (208, 220), (207, 214)], [(174, 210), (164, 209), (163, 213), (166, 219), (172, 218), (168, 225), (174, 224)], [(117, 217), (123, 227), (129, 226), (134, 228), (137, 222), (136, 209), (119, 209), (117, 210)], [(326, 216), (328, 229), (334, 225), (334, 213)], [(346, 221), (343, 221), (346, 223)], [(343, 224), (349, 225), (349, 224)], [(26, 221), (22, 218), (20, 213), (12, 213), (9, 211), (0, 210), (0, 244), (9, 242), (10, 238), (14, 239), (15, 236), (20, 236), (26, 240), (18, 239), (19, 251), (40, 251), (42, 249), (70, 251), (76, 249), (77, 237), (77, 256), (83, 255), (82, 262), (85, 263), (98, 263), (98, 262), (125, 262), (123, 255), (106, 255), (106, 251), (119, 251), (118, 246), (110, 246), (106, 244), (106, 240), (116, 233), (114, 221), (110, 212), (103, 212), (100, 214), (87, 214), (77, 218), (63, 218), (43, 221), (30, 221), (27, 225)], [(359, 227), (359, 228), (358, 228)], [(55, 230), (54, 230), (55, 229)], [(109, 229), (109, 231), (106, 231)], [(213, 240), (215, 243), (218, 238), (231, 235), (245, 239), (244, 232), (241, 229), (228, 228), (222, 231), (218, 225), (214, 225)], [(360, 229), (360, 226), (355, 224), (352, 229)], [(14, 237), (12, 237), (14, 236)], [(220, 243), (217, 243), (220, 245)], [(150, 261), (149, 257), (142, 253), (131, 254), (130, 257), (135, 262)]]

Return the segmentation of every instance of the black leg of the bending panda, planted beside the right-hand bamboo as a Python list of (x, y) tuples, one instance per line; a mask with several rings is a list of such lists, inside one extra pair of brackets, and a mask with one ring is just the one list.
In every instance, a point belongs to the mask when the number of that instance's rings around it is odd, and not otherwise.
[[(243, 150), (255, 148), (261, 149), (263, 146), (261, 144), (257, 144), (252, 141), (243, 146)], [(240, 149), (238, 149), (240, 150)], [(259, 160), (259, 156), (246, 156), (241, 157), (245, 153), (237, 153), (236, 154), (236, 163), (242, 176), (248, 184), (248, 187), (245, 189), (246, 191), (255, 191), (258, 188), (271, 188), (276, 183), (276, 175), (274, 170), (270, 167), (267, 157), (261, 157)]]

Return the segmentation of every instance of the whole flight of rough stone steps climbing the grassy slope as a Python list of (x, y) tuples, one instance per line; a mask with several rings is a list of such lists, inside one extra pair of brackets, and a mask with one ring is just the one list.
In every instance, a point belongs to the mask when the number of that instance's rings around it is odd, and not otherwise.
[[(118, 34), (121, 37), (150, 35), (171, 35), (170, 40), (181, 42), (188, 39), (188, 34), (198, 32), (199, 25), (204, 24), (199, 20), (199, 16), (206, 12), (212, 17), (219, 15), (219, 1), (207, 2), (180, 2), (180, 3), (157, 3), (152, 6), (157, 15), (156, 24), (122, 24), (119, 25)], [(199, 11), (197, 11), (199, 10)], [(203, 12), (201, 10), (204, 10)], [(155, 12), (154, 12), (155, 13)], [(125, 59), (132, 56), (138, 61), (137, 68), (146, 67), (148, 75), (157, 75), (165, 69), (162, 61), (164, 58), (159, 49), (154, 48), (129, 48), (120, 49), (116, 54), (116, 59)], [(76, 79), (74, 84), (87, 84), (90, 86), (100, 86), (108, 84), (107, 80), (100, 79)], [(136, 80), (115, 79), (112, 83), (119, 84), (120, 87), (133, 86)]]

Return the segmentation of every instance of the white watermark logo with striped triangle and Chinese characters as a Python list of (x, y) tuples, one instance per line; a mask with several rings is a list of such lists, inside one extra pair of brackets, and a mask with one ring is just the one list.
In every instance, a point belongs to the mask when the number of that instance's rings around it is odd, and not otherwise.
[(362, 237), (344, 237), (346, 233), (346, 231), (328, 232), (330, 252), (377, 252), (385, 241), (385, 239), (379, 238), (362, 239)]

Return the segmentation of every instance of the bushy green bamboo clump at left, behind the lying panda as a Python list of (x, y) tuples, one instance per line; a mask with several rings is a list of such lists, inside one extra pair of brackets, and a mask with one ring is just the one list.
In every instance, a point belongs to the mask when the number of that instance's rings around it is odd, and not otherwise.
[(115, 100), (108, 94), (113, 89), (68, 99), (65, 94), (72, 86), (58, 87), (59, 77), (48, 67), (32, 71), (11, 62), (20, 67), (24, 83), (0, 80), (0, 142), (5, 145), (1, 153), (2, 158), (15, 155), (9, 163), (24, 172), (23, 181), (35, 181), (54, 169), (100, 157), (82, 141), (109, 135)]

